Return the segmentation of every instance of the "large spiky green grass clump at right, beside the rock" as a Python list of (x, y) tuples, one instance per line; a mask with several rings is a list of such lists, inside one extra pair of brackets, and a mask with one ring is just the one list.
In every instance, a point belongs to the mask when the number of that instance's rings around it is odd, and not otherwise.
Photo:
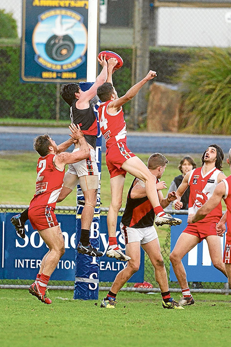
[(183, 65), (181, 130), (230, 134), (231, 50), (203, 49), (198, 60)]

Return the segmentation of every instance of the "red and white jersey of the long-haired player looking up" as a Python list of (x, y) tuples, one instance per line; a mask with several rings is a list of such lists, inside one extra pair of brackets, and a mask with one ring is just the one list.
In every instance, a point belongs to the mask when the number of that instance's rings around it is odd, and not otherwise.
[[(205, 175), (202, 168), (193, 169), (189, 175), (189, 214), (195, 214), (197, 210), (204, 205), (204, 203), (211, 197), (215, 187), (218, 184), (217, 177), (222, 171), (217, 168), (213, 168)], [(214, 217), (222, 217), (221, 202), (215, 207), (200, 223), (208, 222), (208, 220), (214, 219)], [(218, 220), (219, 220), (218, 219)]]

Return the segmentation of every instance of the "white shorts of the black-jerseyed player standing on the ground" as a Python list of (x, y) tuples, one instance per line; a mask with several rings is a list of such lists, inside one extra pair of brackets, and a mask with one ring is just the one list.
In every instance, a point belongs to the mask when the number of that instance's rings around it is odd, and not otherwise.
[(147, 228), (131, 228), (120, 223), (120, 230), (125, 239), (125, 244), (131, 242), (145, 244), (158, 238), (156, 229), (153, 225)]

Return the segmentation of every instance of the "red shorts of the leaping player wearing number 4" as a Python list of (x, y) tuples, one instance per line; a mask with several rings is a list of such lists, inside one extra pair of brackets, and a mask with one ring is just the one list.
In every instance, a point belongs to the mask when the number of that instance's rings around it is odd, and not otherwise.
[(126, 146), (124, 142), (117, 142), (106, 151), (106, 166), (110, 173), (110, 178), (119, 174), (126, 175), (126, 171), (121, 168), (122, 164), (129, 158), (136, 156)]

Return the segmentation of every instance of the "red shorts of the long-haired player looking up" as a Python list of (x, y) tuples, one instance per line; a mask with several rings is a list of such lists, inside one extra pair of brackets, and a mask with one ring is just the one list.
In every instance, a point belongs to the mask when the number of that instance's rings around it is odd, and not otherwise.
[(188, 224), (183, 233), (195, 235), (200, 239), (200, 242), (207, 238), (210, 235), (217, 235), (216, 232), (216, 224), (219, 222), (219, 218), (217, 221), (206, 222), (206, 223), (192, 223)]

